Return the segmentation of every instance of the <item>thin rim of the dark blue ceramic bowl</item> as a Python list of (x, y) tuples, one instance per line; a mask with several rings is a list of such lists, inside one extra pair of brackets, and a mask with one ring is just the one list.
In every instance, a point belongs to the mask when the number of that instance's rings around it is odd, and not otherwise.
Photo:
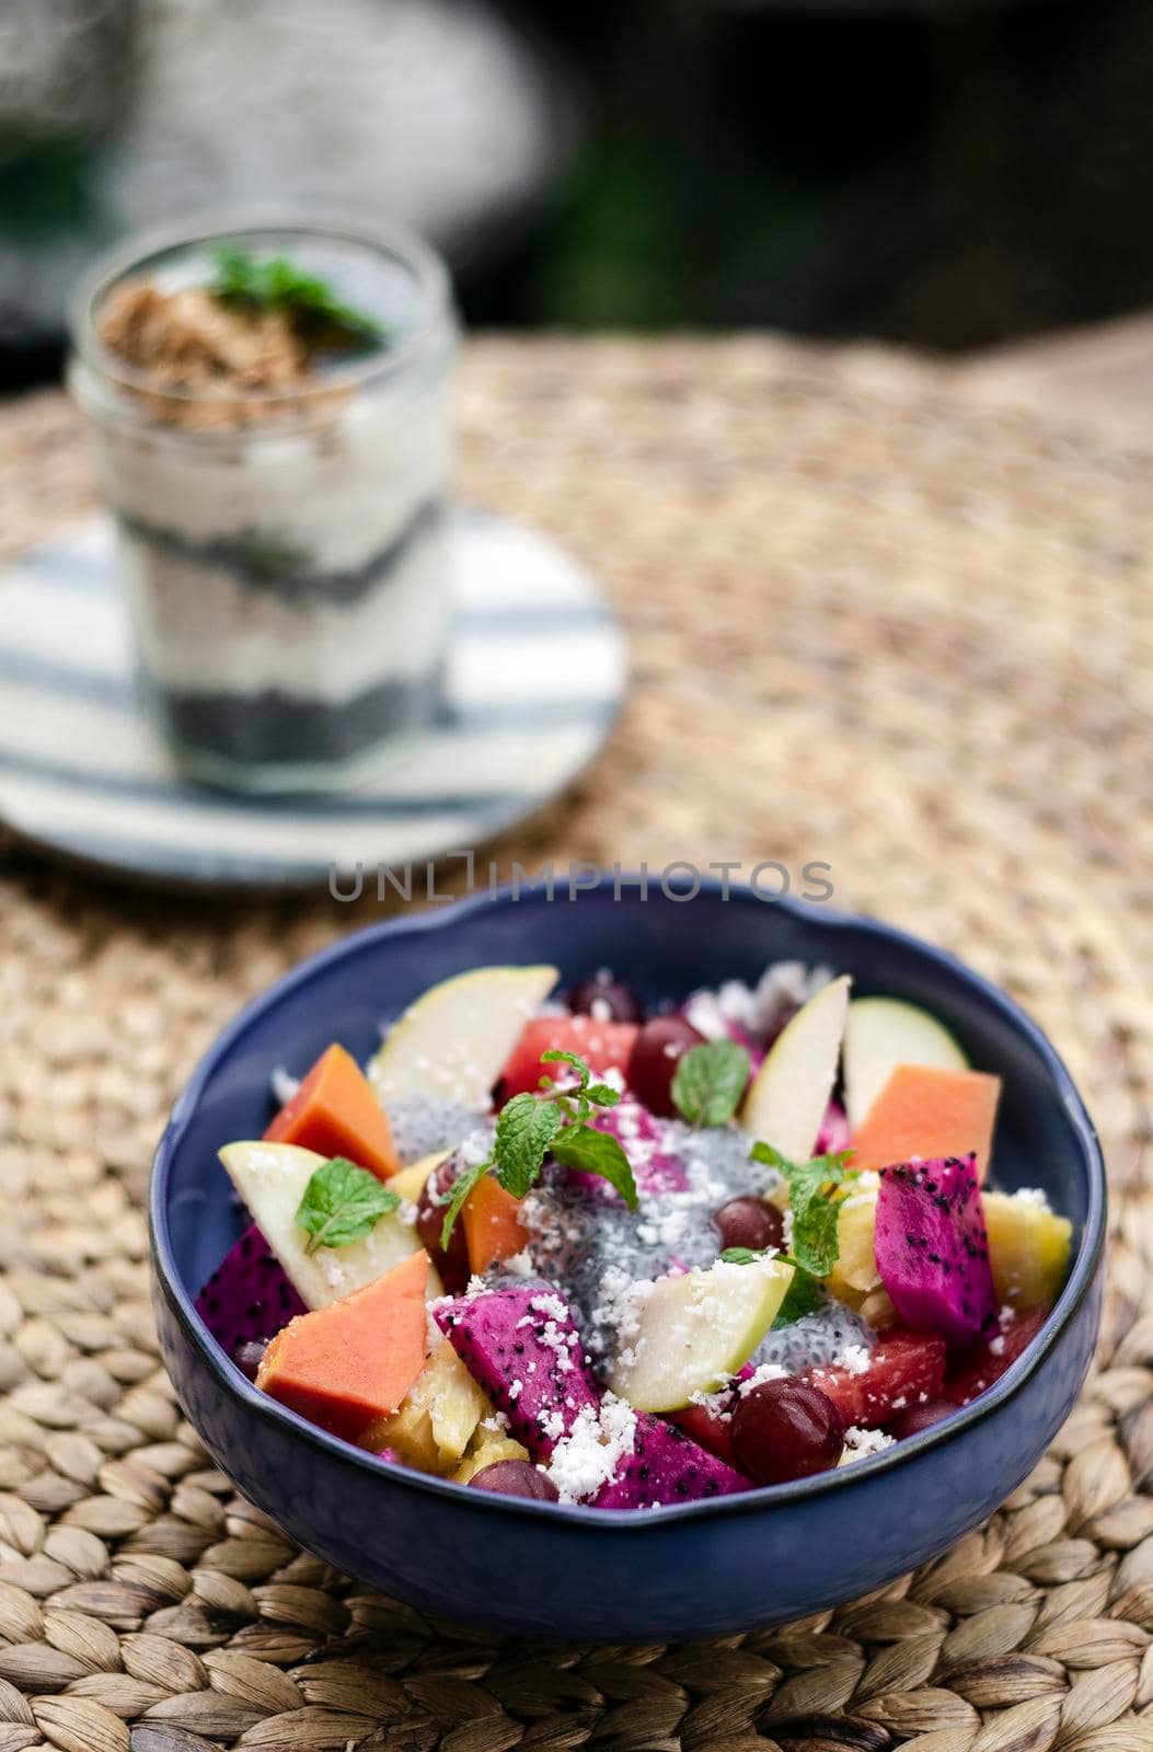
[[(615, 904), (619, 899), (640, 897), (643, 880), (645, 878), (641, 876), (605, 876), (596, 887), (582, 888), (575, 899), (592, 902), (603, 901), (605, 895), (610, 895)], [(648, 888), (647, 894), (652, 902), (652, 899), (655, 899), (652, 888)], [(683, 904), (683, 899), (685, 897), (675, 904)], [(773, 901), (766, 901), (764, 895), (753, 892), (745, 883), (722, 881), (717, 878), (699, 878), (699, 892), (694, 894), (694, 901), (696, 899), (724, 901), (725, 904), (732, 904), (736, 901), (738, 904), (753, 904), (759, 908), (769, 904), (806, 923), (825, 927), (834, 934), (839, 930), (864, 932), (866, 936), (873, 936), (885, 943), (901, 944), (902, 948), (913, 950), (927, 957), (930, 962), (936, 962), (943, 972), (960, 978), (974, 988), (987, 1004), (992, 1004), (994, 1009), (1001, 1011), (1013, 1028), (1025, 1035), (1029, 1044), (1037, 1051), (1043, 1063), (1050, 1070), (1065, 1114), (1081, 1146), (1088, 1197), (1079, 1247), (1065, 1286), (1053, 1303), (1044, 1325), (1029, 1342), (1020, 1358), (1009, 1365), (1004, 1375), (1001, 1375), (992, 1388), (981, 1393), (973, 1403), (958, 1407), (950, 1417), (943, 1419), (941, 1424), (922, 1430), (918, 1435), (906, 1437), (902, 1442), (897, 1442), (878, 1454), (855, 1459), (852, 1466), (834, 1466), (832, 1470), (817, 1473), (810, 1479), (794, 1479), (785, 1484), (753, 1486), (750, 1491), (741, 1491), (734, 1496), (713, 1496), (704, 1501), (664, 1505), (659, 1514), (620, 1514), (620, 1510), (591, 1508), (584, 1503), (527, 1501), (524, 1498), (484, 1493), (484, 1507), (496, 1514), (529, 1517), (543, 1515), (554, 1526), (559, 1517), (564, 1522), (587, 1529), (638, 1533), (648, 1528), (664, 1528), (680, 1521), (697, 1521), (713, 1515), (746, 1515), (760, 1510), (785, 1508), (790, 1503), (818, 1498), (831, 1491), (845, 1489), (867, 1479), (876, 1479), (887, 1472), (897, 1472), (932, 1449), (943, 1447), (946, 1442), (951, 1442), (967, 1430), (973, 1430), (1015, 1398), (1016, 1393), (1037, 1374), (1046, 1358), (1057, 1349), (1062, 1335), (1069, 1330), (1097, 1279), (1104, 1253), (1107, 1207), (1107, 1181), (1097, 1130), (1069, 1070), (1065, 1069), (1064, 1060), (1051, 1046), (1048, 1035), (1015, 999), (1002, 992), (1001, 986), (994, 985), (992, 979), (974, 972), (950, 950), (941, 950), (925, 943), (922, 937), (916, 937), (913, 932), (902, 930), (897, 925), (890, 925), (885, 920), (873, 918), (866, 913), (848, 913), (827, 908), (825, 904), (817, 906), (813, 902), (794, 899), (792, 895), (780, 895)], [(415, 1472), (408, 1466), (382, 1465), (375, 1454), (357, 1449), (354, 1444), (345, 1442), (340, 1437), (329, 1435), (326, 1430), (308, 1423), (298, 1412), (280, 1405), (266, 1393), (259, 1393), (256, 1386), (230, 1363), (221, 1346), (209, 1333), (209, 1328), (202, 1321), (200, 1314), (196, 1314), (193, 1295), (189, 1295), (184, 1288), (177, 1272), (168, 1228), (166, 1186), (172, 1158), (180, 1144), (191, 1114), (200, 1102), (205, 1084), (228, 1060), (237, 1042), (265, 1018), (268, 1009), (280, 1002), (286, 992), (308, 985), (312, 979), (326, 974), (336, 962), (356, 958), (368, 944), (389, 941), (391, 937), (421, 936), (431, 930), (450, 929), (454, 925), (468, 923), (468, 920), (478, 913), (491, 913), (512, 904), (524, 906), (526, 902), (554, 904), (536, 888), (520, 892), (515, 883), (506, 883), (496, 890), (454, 901), (450, 906), (443, 906), (440, 909), (429, 908), (412, 916), (387, 918), (378, 923), (366, 925), (361, 930), (338, 937), (335, 943), (298, 962), (296, 967), (291, 967), (265, 992), (245, 1004), (244, 1009), (216, 1035), (212, 1046), (200, 1058), (196, 1069), (172, 1107), (168, 1123), (156, 1148), (149, 1176), (149, 1244), (156, 1281), (165, 1295), (165, 1300), (168, 1302), (168, 1307), (177, 1318), (186, 1340), (196, 1353), (200, 1365), (209, 1370), (216, 1386), (226, 1396), (238, 1400), (254, 1417), (280, 1428), (289, 1437), (303, 1440), (305, 1445), (319, 1449), (335, 1461), (370, 1472), (386, 1489), (389, 1486), (396, 1486), (419, 1494), (447, 1498), (461, 1507), (464, 1507), (464, 1503), (480, 1507), (477, 1503), (478, 1493), (470, 1491), (466, 1484), (456, 1484), (450, 1479), (438, 1479), (431, 1473)]]

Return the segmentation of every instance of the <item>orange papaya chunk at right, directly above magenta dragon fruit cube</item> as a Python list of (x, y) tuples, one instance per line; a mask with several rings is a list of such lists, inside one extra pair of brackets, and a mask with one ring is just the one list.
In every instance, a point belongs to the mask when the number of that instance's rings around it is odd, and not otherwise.
[(985, 1179), (1001, 1077), (985, 1070), (897, 1065), (852, 1137), (855, 1169), (887, 1169), (913, 1156), (976, 1156)]

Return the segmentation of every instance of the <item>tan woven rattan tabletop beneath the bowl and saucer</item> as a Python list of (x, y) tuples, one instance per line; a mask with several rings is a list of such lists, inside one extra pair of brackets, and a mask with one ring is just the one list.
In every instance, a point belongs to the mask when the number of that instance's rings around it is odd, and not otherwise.
[[(634, 689), (498, 855), (832, 865), (1053, 1034), (1114, 1186), (1100, 1372), (990, 1526), (881, 1594), (682, 1649), (428, 1624), (214, 1472), (151, 1339), (147, 1162), (214, 1030), (371, 904), (0, 887), (0, 1752), (1153, 1748), (1149, 463), (944, 373), (767, 342), (471, 349), (464, 485), (587, 557)], [(0, 415), (0, 548), (89, 503)]]

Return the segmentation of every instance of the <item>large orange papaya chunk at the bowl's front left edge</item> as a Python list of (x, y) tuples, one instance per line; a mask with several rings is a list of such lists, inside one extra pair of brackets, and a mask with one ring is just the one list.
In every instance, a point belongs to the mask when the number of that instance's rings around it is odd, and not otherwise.
[(349, 1442), (389, 1417), (424, 1368), (428, 1270), (428, 1253), (410, 1253), (350, 1296), (298, 1314), (265, 1351), (256, 1386)]

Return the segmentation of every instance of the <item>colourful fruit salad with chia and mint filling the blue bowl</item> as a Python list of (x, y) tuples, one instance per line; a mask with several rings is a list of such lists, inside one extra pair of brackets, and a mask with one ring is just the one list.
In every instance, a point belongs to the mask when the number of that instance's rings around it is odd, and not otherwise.
[(221, 1162), (196, 1307), (261, 1393), (471, 1489), (648, 1510), (853, 1465), (1022, 1354), (1072, 1226), (1001, 1191), (1001, 1079), (796, 962), (647, 1009), (482, 967), (329, 1046)]

